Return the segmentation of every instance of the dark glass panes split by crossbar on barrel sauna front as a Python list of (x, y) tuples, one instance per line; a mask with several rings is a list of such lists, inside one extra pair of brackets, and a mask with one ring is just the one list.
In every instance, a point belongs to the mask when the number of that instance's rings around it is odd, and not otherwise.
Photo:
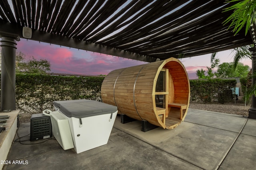
[(160, 71), (156, 82), (156, 107), (166, 107), (166, 70)]

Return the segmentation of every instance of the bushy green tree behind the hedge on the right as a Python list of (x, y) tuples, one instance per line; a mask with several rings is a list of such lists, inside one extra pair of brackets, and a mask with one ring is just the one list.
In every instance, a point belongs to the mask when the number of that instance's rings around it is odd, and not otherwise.
[(215, 73), (218, 78), (227, 77), (244, 77), (247, 76), (250, 67), (242, 63), (238, 63), (236, 69), (234, 70), (234, 62), (222, 63), (218, 65), (217, 72)]

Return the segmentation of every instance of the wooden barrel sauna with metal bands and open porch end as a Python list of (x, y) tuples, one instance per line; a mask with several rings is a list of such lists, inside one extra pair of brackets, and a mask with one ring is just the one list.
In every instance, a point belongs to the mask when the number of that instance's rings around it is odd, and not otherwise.
[(173, 129), (186, 117), (190, 83), (184, 65), (170, 58), (113, 70), (102, 82), (101, 97), (119, 114)]

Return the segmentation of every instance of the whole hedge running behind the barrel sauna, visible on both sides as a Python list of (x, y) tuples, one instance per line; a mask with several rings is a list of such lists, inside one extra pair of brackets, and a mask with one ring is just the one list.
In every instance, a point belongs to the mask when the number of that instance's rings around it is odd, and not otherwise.
[[(100, 89), (104, 77), (16, 74), (16, 104), (21, 113), (42, 113), (53, 109), (53, 101), (88, 99), (102, 101)], [(236, 80), (190, 80), (190, 100), (204, 103), (227, 101)], [(232, 95), (232, 94), (231, 94)]]

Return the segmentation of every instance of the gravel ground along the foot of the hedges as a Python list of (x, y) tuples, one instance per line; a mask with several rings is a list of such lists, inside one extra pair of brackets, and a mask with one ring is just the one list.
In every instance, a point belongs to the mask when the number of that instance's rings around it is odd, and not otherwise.
[[(230, 113), (235, 115), (244, 115), (248, 116), (248, 109), (251, 105), (244, 106), (242, 99), (239, 99), (235, 102), (229, 102), (225, 104), (220, 104), (218, 102), (211, 102), (209, 104), (204, 104), (200, 102), (190, 102), (189, 108), (191, 109), (200, 109), (200, 110), (208, 110), (208, 111), (216, 111), (221, 113)], [(20, 123), (30, 122), (31, 115), (28, 114), (20, 114)]]

